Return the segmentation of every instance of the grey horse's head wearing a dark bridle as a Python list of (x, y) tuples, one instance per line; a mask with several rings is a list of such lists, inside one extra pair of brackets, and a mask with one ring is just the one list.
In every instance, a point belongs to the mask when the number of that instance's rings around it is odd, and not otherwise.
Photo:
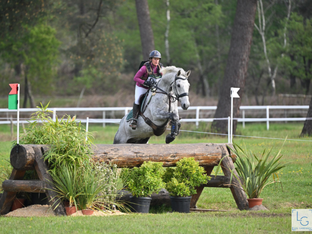
[(183, 110), (187, 110), (190, 106), (189, 102), (189, 88), (190, 83), (187, 78), (190, 76), (191, 70), (185, 72), (178, 70), (175, 80), (172, 82), (172, 90), (174, 91), (177, 99), (181, 103)]

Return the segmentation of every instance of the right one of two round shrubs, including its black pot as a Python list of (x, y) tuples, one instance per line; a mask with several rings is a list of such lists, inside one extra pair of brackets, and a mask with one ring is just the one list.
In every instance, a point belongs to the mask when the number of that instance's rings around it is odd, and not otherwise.
[(176, 168), (167, 168), (163, 176), (169, 192), (174, 212), (190, 213), (190, 203), (195, 187), (207, 183), (210, 176), (199, 166), (194, 157), (184, 157), (176, 163)]

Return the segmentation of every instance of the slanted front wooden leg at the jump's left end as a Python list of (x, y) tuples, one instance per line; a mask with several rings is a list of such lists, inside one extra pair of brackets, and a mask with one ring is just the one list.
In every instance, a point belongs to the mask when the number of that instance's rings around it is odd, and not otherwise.
[[(35, 151), (35, 169), (40, 180), (47, 182), (47, 188), (52, 189), (52, 186), (49, 183), (53, 182), (52, 176), (48, 173), (48, 165), (43, 160), (43, 155), (41, 152), (41, 147), (34, 147)], [(49, 182), (49, 183), (48, 183)], [(52, 190), (46, 190), (46, 195), (48, 197), (49, 203), (52, 207), (52, 210), (56, 215), (66, 215), (65, 207), (62, 202), (57, 201), (56, 195), (57, 193)]]

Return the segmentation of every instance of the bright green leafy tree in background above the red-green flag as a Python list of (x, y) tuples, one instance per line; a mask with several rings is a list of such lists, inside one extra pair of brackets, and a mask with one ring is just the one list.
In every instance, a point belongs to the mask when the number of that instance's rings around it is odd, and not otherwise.
[[(25, 32), (18, 40), (8, 36), (0, 43), (1, 58), (13, 67), (22, 64), (24, 76), (24, 103), (27, 99), (30, 107), (35, 107), (31, 86), (34, 85), (40, 91), (51, 90), (51, 81), (55, 73), (54, 65), (59, 55), (60, 42), (56, 39), (54, 28), (39, 24), (37, 26), (24, 26)], [(31, 85), (32, 83), (32, 85)]]

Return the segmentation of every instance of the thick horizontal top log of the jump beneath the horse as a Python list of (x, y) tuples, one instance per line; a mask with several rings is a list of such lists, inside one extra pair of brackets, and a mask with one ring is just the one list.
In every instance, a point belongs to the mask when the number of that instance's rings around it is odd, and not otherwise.
[[(119, 168), (137, 167), (144, 161), (163, 162), (164, 167), (174, 167), (176, 162), (183, 157), (195, 157), (200, 166), (218, 165), (222, 151), (220, 146), (226, 144), (197, 143), (197, 144), (118, 144), (94, 146), (92, 159), (95, 161), (114, 163)], [(39, 145), (38, 145), (39, 146)], [(17, 155), (16, 147), (11, 151), (11, 164), (15, 169), (31, 168), (33, 163), (33, 150), (31, 147), (20, 145), (22, 150)], [(48, 150), (47, 146), (41, 146), (43, 150)], [(32, 153), (31, 153), (32, 152)], [(29, 155), (29, 156), (27, 156)], [(20, 160), (22, 158), (22, 160)], [(20, 161), (19, 161), (20, 160)], [(27, 169), (30, 170), (30, 169)]]

